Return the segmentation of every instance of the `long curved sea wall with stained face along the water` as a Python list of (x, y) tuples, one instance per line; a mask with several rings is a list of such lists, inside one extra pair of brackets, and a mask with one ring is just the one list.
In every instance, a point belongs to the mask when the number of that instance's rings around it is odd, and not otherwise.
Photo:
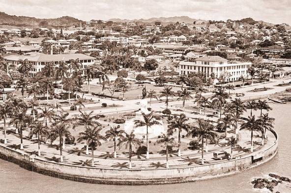
[(245, 157), (219, 163), (170, 169), (102, 169), (72, 166), (38, 157), (31, 159), (29, 155), (22, 151), (4, 145), (0, 145), (0, 158), (34, 172), (79, 182), (112, 185), (182, 183), (232, 175), (269, 161), (278, 150), (277, 133), (273, 130), (272, 133), (275, 135), (276, 141), (264, 151), (258, 150)]

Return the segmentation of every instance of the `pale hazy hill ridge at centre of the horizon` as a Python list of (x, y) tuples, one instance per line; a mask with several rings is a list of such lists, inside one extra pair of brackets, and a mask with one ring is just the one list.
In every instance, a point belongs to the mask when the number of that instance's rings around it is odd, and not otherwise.
[(154, 23), (154, 22), (161, 22), (161, 23), (186, 23), (186, 24), (193, 24), (193, 22), (201, 23), (201, 22), (207, 22), (206, 20), (197, 20), (193, 18), (189, 18), (188, 16), (180, 16), (180, 17), (160, 17), (160, 18), (149, 18), (149, 19), (139, 19), (139, 20), (122, 20), (122, 19), (110, 19), (109, 21), (113, 22), (143, 22), (143, 23)]

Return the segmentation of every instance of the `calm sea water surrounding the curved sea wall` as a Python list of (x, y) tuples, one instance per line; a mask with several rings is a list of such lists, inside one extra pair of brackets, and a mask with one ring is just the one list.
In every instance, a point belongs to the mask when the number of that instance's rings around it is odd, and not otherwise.
[[(113, 186), (62, 180), (22, 169), (0, 159), (0, 193), (249, 193), (267, 192), (254, 190), (250, 184), (255, 177), (268, 173), (291, 177), (291, 104), (270, 104), (269, 115), (276, 119), (279, 134), (278, 154), (269, 162), (232, 176), (192, 183), (154, 186)], [(259, 115), (259, 112), (255, 113)], [(279, 184), (274, 192), (291, 193), (291, 183)]]

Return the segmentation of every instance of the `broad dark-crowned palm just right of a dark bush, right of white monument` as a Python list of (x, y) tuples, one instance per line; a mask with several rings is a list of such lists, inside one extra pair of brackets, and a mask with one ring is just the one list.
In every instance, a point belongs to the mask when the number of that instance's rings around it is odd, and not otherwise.
[[(204, 138), (213, 136), (213, 125), (209, 120), (203, 120), (203, 119), (198, 119), (197, 121), (197, 126), (193, 126), (191, 131), (188, 133), (188, 135), (191, 135), (193, 138), (198, 137), (201, 139), (202, 143), (202, 150), (201, 150), (201, 164), (204, 164)], [(215, 138), (215, 137), (212, 137)]]

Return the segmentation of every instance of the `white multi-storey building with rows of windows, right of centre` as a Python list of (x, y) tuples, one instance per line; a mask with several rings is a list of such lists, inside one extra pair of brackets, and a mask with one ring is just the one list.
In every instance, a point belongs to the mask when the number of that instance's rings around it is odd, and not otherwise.
[(214, 74), (214, 77), (221, 77), (228, 74), (226, 81), (236, 81), (241, 75), (247, 76), (247, 70), (251, 62), (229, 62), (220, 56), (203, 56), (195, 62), (180, 62), (177, 71), (180, 75), (188, 75), (190, 72), (203, 72), (207, 78)]

